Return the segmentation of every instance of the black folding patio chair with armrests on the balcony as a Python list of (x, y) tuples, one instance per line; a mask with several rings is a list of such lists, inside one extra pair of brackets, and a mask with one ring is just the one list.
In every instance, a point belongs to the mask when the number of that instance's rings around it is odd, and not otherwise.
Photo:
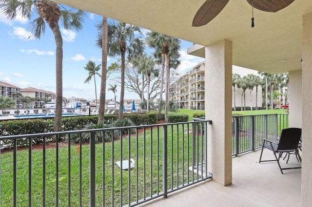
[[(263, 144), (260, 154), (259, 163), (261, 162), (269, 162), (269, 161), (277, 161), (278, 167), (283, 173), (283, 169), (299, 169), (301, 167), (292, 167), (292, 168), (281, 168), (279, 164), (279, 159), (282, 156), (282, 153), (298, 153), (298, 144), (301, 137), (301, 129), (300, 128), (288, 128), (282, 130), (282, 133), (279, 137), (279, 142), (275, 143), (271, 140), (263, 138)], [(263, 149), (266, 148), (268, 150), (273, 151), (275, 156), (275, 160), (261, 160)]]

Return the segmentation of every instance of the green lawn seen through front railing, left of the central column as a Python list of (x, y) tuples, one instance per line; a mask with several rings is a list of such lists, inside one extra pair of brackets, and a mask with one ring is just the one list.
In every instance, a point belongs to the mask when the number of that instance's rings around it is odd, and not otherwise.
[[(189, 179), (192, 173), (188, 171), (188, 165), (192, 164), (192, 134), (186, 133), (182, 127), (168, 127), (168, 188), (181, 186)], [(151, 132), (153, 138), (151, 139)], [(157, 142), (157, 133), (159, 140)], [(196, 136), (197, 137), (197, 136)], [(201, 149), (201, 136), (199, 135), (198, 147)], [(197, 138), (196, 138), (197, 139)], [(145, 140), (145, 141), (144, 141)], [(177, 144), (178, 142), (178, 144)], [(120, 169), (114, 164), (121, 159), (128, 159), (128, 147), (130, 143), (130, 157), (136, 162), (136, 167), (129, 171), (122, 171), (122, 189), (120, 189)], [(103, 195), (103, 157), (105, 167), (105, 205), (109, 206), (112, 201), (120, 205), (122, 191), (123, 205), (128, 203), (128, 186), (130, 185), (130, 203), (136, 199), (162, 191), (162, 128), (147, 130), (139, 133), (138, 137), (132, 135), (121, 141), (114, 141), (114, 154), (112, 153), (112, 142), (96, 145), (96, 203), (102, 206)], [(189, 144), (189, 147), (188, 145)], [(104, 156), (103, 156), (104, 146)], [(137, 148), (138, 146), (138, 148)], [(197, 146), (197, 142), (196, 142)], [(82, 152), (82, 206), (89, 205), (89, 145), (83, 145)], [(159, 154), (157, 155), (157, 148)], [(184, 153), (182, 153), (182, 148)], [(138, 149), (138, 151), (137, 151)], [(144, 150), (145, 149), (145, 150)], [(189, 150), (188, 150), (189, 149)], [(120, 156), (122, 151), (122, 157)], [(72, 145), (71, 152), (71, 206), (79, 206), (79, 151), (77, 145)], [(199, 151), (200, 161), (202, 152)], [(138, 156), (136, 156), (138, 154)], [(112, 160), (112, 156), (114, 159)], [(189, 161), (187, 160), (189, 158)], [(197, 153), (195, 152), (195, 161)], [(138, 162), (136, 161), (138, 159)], [(157, 162), (159, 162), (157, 168)], [(189, 163), (189, 164), (188, 164)], [(144, 174), (145, 165), (145, 174)], [(114, 166), (114, 167), (112, 167)], [(114, 169), (114, 172), (112, 171)], [(1, 154), (1, 206), (12, 206), (13, 195), (13, 153)], [(114, 173), (114, 176), (112, 174)], [(159, 179), (157, 180), (157, 174)], [(112, 177), (114, 182), (112, 183)], [(145, 186), (143, 180), (145, 177)], [(195, 179), (196, 174), (194, 175)], [(136, 185), (138, 183), (138, 187)], [(68, 202), (68, 148), (59, 147), (59, 206), (67, 206)], [(55, 206), (56, 203), (56, 149), (46, 150), (46, 206)], [(114, 196), (112, 195), (114, 193)], [(28, 206), (28, 150), (17, 152), (17, 206)], [(138, 195), (138, 197), (137, 197)], [(32, 151), (32, 206), (42, 205), (42, 150)]]

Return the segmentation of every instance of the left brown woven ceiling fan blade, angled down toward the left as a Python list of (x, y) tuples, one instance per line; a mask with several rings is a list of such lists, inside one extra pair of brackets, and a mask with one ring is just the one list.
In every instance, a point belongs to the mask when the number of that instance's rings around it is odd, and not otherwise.
[(198, 9), (192, 26), (200, 27), (214, 19), (226, 6), (229, 0), (206, 0)]

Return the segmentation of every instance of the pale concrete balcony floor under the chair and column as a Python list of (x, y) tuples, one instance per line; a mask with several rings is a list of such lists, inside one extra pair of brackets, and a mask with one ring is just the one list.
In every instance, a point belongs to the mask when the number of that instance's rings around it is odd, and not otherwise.
[[(209, 180), (168, 194), (141, 207), (300, 207), (301, 169), (287, 169), (281, 174), (276, 162), (258, 163), (261, 151), (233, 157), (233, 184), (224, 187)], [(273, 159), (264, 150), (264, 159)], [(294, 155), (281, 160), (283, 168), (300, 167)]]

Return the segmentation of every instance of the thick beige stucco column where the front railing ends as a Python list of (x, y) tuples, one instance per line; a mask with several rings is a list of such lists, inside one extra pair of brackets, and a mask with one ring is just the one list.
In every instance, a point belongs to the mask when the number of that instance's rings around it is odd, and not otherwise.
[(208, 168), (213, 179), (232, 184), (232, 41), (205, 48), (205, 115), (208, 127)]

